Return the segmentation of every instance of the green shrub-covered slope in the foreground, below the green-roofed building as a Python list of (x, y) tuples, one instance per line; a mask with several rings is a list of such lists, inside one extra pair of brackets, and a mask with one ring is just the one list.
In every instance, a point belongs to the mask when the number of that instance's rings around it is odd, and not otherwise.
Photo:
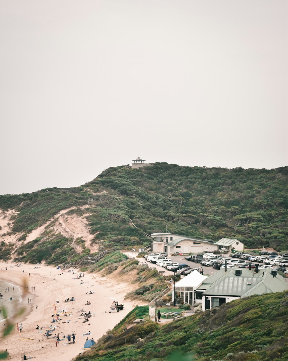
[[(287, 306), (287, 291), (269, 293), (161, 326), (148, 320), (148, 306), (136, 307), (75, 360), (287, 361)], [(147, 321), (129, 328), (136, 318)]]

